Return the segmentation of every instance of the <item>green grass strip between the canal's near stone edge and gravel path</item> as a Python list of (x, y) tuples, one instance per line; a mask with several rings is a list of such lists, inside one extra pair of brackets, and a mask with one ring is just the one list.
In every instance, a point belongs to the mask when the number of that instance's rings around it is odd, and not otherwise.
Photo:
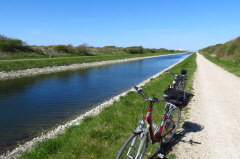
[[(172, 71), (177, 73), (181, 69), (187, 69), (189, 79), (193, 79), (196, 69), (195, 59), (196, 54), (191, 55), (172, 68)], [(143, 90), (148, 96), (161, 98), (164, 89), (172, 80), (170, 74), (162, 74), (146, 84)], [(187, 85), (188, 89), (191, 89), (190, 84)], [(136, 92), (129, 92), (99, 115), (87, 117), (80, 125), (72, 126), (64, 134), (37, 144), (32, 151), (23, 154), (20, 158), (115, 158), (138, 120), (145, 116), (147, 103), (143, 103), (144, 100)], [(156, 104), (153, 113), (155, 123), (160, 123), (163, 112), (164, 103)], [(174, 155), (171, 156), (174, 158)]]

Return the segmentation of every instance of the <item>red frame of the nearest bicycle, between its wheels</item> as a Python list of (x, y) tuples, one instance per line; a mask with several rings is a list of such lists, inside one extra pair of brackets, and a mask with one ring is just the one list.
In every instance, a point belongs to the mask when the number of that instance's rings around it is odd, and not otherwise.
[[(158, 128), (157, 131), (153, 131), (153, 122), (152, 122), (152, 109), (153, 109), (153, 103), (150, 102), (149, 108), (147, 110), (147, 114), (144, 118), (144, 120), (141, 120), (139, 122), (139, 126), (137, 127), (137, 129), (134, 131), (135, 133), (139, 133), (139, 132), (143, 132), (146, 131), (146, 133), (150, 132), (150, 138), (152, 140), (152, 143), (155, 142), (160, 142), (166, 135), (168, 135), (169, 133), (171, 133), (174, 128), (176, 127), (175, 122), (170, 118), (170, 114), (172, 113), (172, 110), (176, 107), (175, 105), (171, 104), (171, 103), (166, 103), (167, 105), (170, 106), (170, 109), (163, 115), (163, 120), (161, 122), (161, 126)], [(173, 127), (172, 129), (170, 129), (166, 134), (162, 135), (163, 132), (163, 127), (166, 124), (166, 121), (170, 120), (173, 123)], [(146, 124), (146, 128), (143, 128), (143, 125)], [(146, 134), (145, 133), (145, 134)]]

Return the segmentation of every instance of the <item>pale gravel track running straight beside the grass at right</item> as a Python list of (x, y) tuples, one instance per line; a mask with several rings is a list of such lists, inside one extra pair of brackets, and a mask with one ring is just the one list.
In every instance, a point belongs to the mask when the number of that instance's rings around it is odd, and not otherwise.
[(177, 159), (240, 159), (240, 78), (199, 54), (197, 64)]

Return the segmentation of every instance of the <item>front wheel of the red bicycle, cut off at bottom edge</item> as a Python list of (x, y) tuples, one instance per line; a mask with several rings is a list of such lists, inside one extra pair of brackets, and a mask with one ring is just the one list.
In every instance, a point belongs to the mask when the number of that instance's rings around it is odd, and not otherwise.
[(131, 135), (118, 152), (116, 159), (142, 159), (147, 140), (147, 135), (143, 132)]

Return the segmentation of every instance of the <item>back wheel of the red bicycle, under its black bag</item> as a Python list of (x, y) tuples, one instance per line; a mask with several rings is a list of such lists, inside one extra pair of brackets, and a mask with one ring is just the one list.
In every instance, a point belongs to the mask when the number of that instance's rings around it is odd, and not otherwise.
[[(170, 105), (168, 105), (170, 107)], [(170, 110), (171, 109), (171, 110)], [(164, 124), (163, 124), (163, 130), (161, 136), (162, 138), (162, 143), (168, 143), (171, 141), (173, 138), (174, 134), (177, 131), (180, 117), (181, 117), (181, 110), (178, 107), (175, 108), (167, 108), (168, 111), (172, 111), (172, 113), (169, 116), (169, 119), (164, 119)]]

